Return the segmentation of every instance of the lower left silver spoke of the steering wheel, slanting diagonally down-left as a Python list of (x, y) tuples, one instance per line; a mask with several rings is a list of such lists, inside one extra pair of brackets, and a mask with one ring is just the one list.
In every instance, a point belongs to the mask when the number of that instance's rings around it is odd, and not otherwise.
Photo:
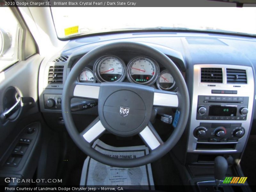
[(88, 127), (84, 129), (80, 135), (90, 144), (98, 139), (106, 131), (105, 127), (101, 124), (100, 118), (97, 117)]

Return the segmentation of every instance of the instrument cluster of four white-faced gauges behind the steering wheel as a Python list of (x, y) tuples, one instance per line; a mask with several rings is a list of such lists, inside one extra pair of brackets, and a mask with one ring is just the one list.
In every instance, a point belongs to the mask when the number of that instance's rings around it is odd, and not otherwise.
[(153, 85), (158, 89), (175, 91), (175, 81), (168, 70), (162, 70), (156, 60), (139, 56), (132, 58), (126, 65), (124, 60), (114, 55), (100, 57), (93, 67), (87, 66), (78, 77), (79, 82), (99, 83), (122, 82), (126, 78), (131, 83)]

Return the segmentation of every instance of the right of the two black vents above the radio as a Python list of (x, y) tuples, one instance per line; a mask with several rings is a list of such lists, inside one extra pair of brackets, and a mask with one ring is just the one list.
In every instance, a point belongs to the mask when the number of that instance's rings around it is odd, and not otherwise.
[(227, 83), (247, 84), (246, 71), (243, 69), (227, 68)]

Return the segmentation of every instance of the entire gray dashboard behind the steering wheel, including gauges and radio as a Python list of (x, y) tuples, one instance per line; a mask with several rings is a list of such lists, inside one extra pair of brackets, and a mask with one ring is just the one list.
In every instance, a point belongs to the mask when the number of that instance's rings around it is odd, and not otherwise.
[[(184, 152), (181, 161), (198, 163), (216, 154), (232, 155), (234, 159), (241, 156), (256, 120), (256, 39), (251, 37), (152, 32), (70, 40), (60, 52), (45, 58), (39, 70), (39, 103), (46, 121), (55, 122), (53, 127), (60, 126), (62, 89), (76, 62), (92, 49), (117, 41), (152, 46), (169, 57), (182, 73), (190, 97), (190, 116), (185, 135), (177, 144), (177, 153)], [(130, 82), (179, 92), (172, 73), (151, 55), (139, 52), (106, 52), (84, 63), (77, 81)], [(73, 98), (71, 104), (80, 101)], [(97, 116), (98, 111), (90, 108), (74, 114), (89, 117)]]

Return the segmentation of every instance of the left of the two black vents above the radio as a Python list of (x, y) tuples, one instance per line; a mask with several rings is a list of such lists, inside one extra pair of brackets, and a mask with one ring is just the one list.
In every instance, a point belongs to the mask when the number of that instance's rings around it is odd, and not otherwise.
[(201, 68), (202, 83), (222, 83), (222, 68)]

